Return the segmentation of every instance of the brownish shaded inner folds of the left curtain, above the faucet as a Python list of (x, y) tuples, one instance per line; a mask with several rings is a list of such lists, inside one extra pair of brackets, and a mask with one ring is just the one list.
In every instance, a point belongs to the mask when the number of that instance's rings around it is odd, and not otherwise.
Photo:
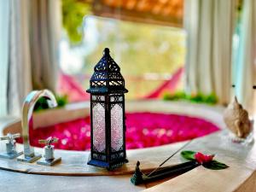
[(61, 38), (61, 0), (31, 1), (30, 29), (33, 88), (55, 90)]

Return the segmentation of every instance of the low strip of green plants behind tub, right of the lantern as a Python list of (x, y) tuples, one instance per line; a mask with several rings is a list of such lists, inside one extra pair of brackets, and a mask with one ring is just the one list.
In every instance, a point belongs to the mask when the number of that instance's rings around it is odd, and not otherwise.
[(188, 95), (184, 91), (177, 91), (175, 93), (165, 93), (163, 99), (166, 101), (179, 101), (185, 100), (189, 102), (216, 104), (218, 102), (218, 97), (212, 93), (210, 95), (204, 95), (202, 93), (196, 93)]

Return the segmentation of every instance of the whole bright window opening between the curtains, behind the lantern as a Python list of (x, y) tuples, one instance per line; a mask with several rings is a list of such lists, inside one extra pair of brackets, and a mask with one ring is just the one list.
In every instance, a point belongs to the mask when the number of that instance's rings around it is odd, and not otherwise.
[[(110, 49), (113, 59), (121, 67), (125, 85), (129, 90), (128, 99), (147, 98), (164, 83), (173, 81), (172, 76), (183, 68), (185, 32), (181, 28), (180, 20), (176, 21), (179, 22), (178, 25), (174, 25), (171, 19), (163, 19), (168, 18), (161, 15), (166, 11), (163, 7), (158, 15), (149, 15), (149, 12), (156, 10), (144, 6), (148, 12), (143, 9), (127, 11), (120, 5), (114, 7), (118, 5), (109, 2), (102, 1), (100, 5), (92, 5), (63, 0), (61, 71), (65, 79), (60, 81), (59, 91), (70, 95), (74, 102), (89, 99), (78, 96), (79, 93), (74, 96), (74, 92), (88, 88), (93, 67), (101, 59), (105, 47)], [(140, 1), (136, 2), (136, 6), (139, 6)], [(74, 9), (75, 6), (78, 9)], [(172, 10), (172, 7), (168, 10)], [(128, 19), (127, 15), (130, 16)], [(182, 77), (174, 80), (171, 89), (183, 89)], [(73, 91), (65, 89), (66, 86), (71, 88), (71, 84)]]

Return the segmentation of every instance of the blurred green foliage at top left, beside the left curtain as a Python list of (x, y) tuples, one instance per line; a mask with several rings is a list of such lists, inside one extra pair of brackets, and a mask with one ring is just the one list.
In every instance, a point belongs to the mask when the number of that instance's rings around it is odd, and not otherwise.
[(90, 14), (90, 4), (77, 0), (62, 0), (62, 25), (71, 44), (83, 39), (83, 18)]

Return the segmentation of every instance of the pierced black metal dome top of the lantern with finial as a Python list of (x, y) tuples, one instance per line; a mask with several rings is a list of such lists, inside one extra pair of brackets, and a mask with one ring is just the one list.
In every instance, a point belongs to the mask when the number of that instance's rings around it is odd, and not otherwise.
[(126, 93), (125, 79), (120, 73), (120, 67), (113, 61), (109, 54), (109, 49), (105, 48), (103, 56), (94, 67), (94, 73), (90, 78), (90, 89), (88, 93)]

